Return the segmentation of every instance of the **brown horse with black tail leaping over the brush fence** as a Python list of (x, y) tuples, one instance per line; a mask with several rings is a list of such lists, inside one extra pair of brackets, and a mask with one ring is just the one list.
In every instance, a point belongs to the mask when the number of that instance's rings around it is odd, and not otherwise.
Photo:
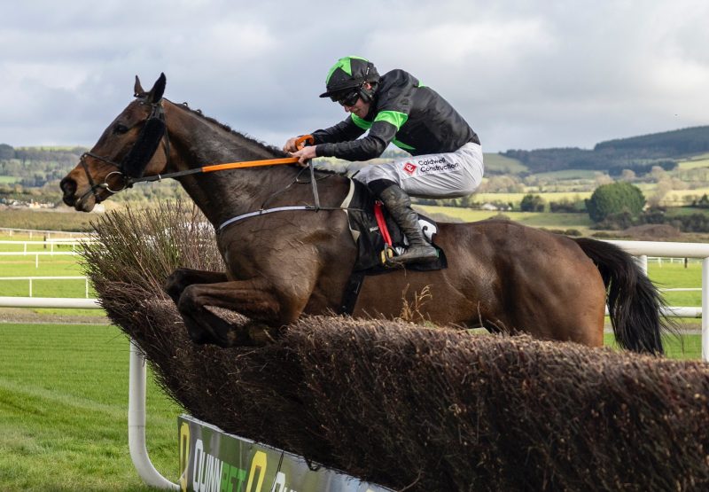
[[(120, 191), (129, 176), (181, 171), (176, 179), (217, 230), (226, 272), (177, 269), (166, 289), (191, 339), (222, 347), (259, 344), (302, 314), (339, 312), (356, 246), (340, 204), (345, 176), (316, 172), (321, 209), (314, 210), (308, 172), (294, 165), (197, 170), (283, 152), (162, 97), (136, 77), (135, 96), (61, 182), (64, 201), (90, 211)], [(194, 173), (194, 174), (190, 174)], [(306, 206), (300, 210), (278, 207)], [(261, 209), (254, 215), (220, 225)], [(398, 269), (366, 277), (354, 316), (401, 315), (407, 296), (431, 298), (417, 309), (436, 324), (527, 332), (548, 340), (603, 344), (606, 294), (619, 344), (661, 353), (658, 291), (632, 257), (593, 239), (572, 239), (518, 223), (440, 223), (435, 238), (448, 268)], [(250, 322), (235, 328), (207, 306), (233, 309)]]

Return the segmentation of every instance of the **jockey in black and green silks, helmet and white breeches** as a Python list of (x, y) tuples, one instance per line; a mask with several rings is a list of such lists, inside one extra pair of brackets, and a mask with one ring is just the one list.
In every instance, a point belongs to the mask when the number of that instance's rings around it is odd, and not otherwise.
[(391, 262), (434, 261), (437, 251), (426, 242), (409, 195), (444, 199), (475, 191), (483, 175), (478, 136), (444, 98), (403, 70), (380, 76), (370, 61), (345, 57), (331, 67), (325, 83), (320, 97), (339, 103), (349, 116), (314, 131), (313, 146), (299, 151), (292, 137), (284, 151), (300, 163), (315, 157), (370, 160), (389, 144), (409, 152), (413, 158), (363, 168), (354, 179), (381, 199), (409, 239), (407, 251)]

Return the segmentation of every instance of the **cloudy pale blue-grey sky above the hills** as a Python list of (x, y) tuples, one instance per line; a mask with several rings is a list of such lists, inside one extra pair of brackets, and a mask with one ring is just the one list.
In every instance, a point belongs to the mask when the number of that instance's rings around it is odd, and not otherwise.
[(93, 145), (164, 72), (165, 97), (266, 143), (344, 119), (340, 57), (402, 68), (485, 152), (592, 148), (709, 124), (705, 0), (0, 0), (0, 143)]

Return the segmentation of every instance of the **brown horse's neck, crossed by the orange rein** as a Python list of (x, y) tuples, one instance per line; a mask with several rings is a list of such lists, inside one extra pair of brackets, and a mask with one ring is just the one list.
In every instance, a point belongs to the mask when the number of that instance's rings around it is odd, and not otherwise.
[[(267, 148), (175, 105), (166, 107), (170, 167), (175, 170), (274, 157)], [(261, 207), (274, 191), (292, 182), (292, 168), (239, 169), (183, 176), (183, 188), (215, 225)]]

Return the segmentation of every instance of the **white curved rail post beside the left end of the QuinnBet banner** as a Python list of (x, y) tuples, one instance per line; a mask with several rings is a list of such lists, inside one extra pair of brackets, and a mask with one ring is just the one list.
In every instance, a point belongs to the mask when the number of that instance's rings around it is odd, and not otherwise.
[(179, 490), (180, 486), (163, 477), (152, 465), (145, 445), (145, 355), (130, 340), (128, 445), (130, 458), (143, 481), (155, 488)]

